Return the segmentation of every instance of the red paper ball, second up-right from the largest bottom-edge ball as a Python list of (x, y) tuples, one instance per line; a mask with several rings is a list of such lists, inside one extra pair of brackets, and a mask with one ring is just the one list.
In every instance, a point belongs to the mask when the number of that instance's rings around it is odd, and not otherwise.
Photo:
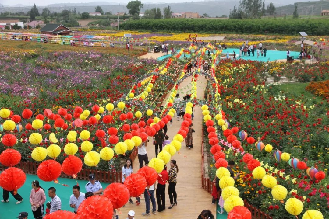
[(137, 197), (144, 192), (146, 180), (143, 176), (132, 173), (124, 180), (124, 185), (128, 188), (131, 197)]

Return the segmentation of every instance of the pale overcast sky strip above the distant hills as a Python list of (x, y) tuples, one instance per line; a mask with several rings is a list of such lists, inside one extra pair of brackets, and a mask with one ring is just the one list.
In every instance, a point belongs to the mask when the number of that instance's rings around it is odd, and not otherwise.
[[(0, 0), (0, 3), (3, 5), (33, 5), (36, 4), (37, 6), (45, 6), (49, 4), (55, 4), (55, 3), (87, 3), (87, 2), (102, 2), (102, 0), (56, 0), (56, 1), (50, 1), (50, 0)], [(110, 0), (110, 1), (104, 1), (104, 2), (116, 2), (121, 4), (127, 4), (130, 0)], [(178, 2), (190, 2), (191, 0), (141, 0), (142, 3), (158, 3), (158, 2), (165, 2), (165, 3), (178, 3)], [(203, 1), (203, 0), (195, 0), (195, 1)]]

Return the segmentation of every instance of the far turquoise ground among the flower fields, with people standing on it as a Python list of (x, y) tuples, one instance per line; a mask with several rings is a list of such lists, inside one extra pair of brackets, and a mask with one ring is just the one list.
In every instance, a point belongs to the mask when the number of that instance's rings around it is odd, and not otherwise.
[[(231, 48), (223, 50), (223, 54), (226, 54), (227, 52), (229, 52), (230, 54), (233, 54), (234, 51), (237, 55), (239, 55), (239, 49), (231, 49)], [(293, 56), (295, 59), (298, 58), (298, 55), (299, 55), (299, 52), (290, 51), (290, 56)], [(163, 55), (163, 56), (159, 57), (158, 60), (162, 61), (170, 56), (171, 56), (171, 54)], [(238, 58), (240, 58), (240, 57), (238, 57)], [(253, 60), (253, 61), (275, 61), (278, 59), (286, 59), (287, 51), (267, 50), (266, 57), (260, 55), (257, 58), (257, 52), (255, 52), (255, 56), (252, 56), (252, 54), (250, 53), (250, 56), (242, 56), (241, 58), (246, 59), (246, 60)]]

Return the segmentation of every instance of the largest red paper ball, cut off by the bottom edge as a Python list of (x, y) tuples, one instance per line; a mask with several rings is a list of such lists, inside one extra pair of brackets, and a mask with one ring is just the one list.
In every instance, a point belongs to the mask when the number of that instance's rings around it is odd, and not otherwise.
[(79, 219), (109, 219), (113, 216), (113, 205), (103, 195), (93, 195), (81, 202), (77, 216)]

